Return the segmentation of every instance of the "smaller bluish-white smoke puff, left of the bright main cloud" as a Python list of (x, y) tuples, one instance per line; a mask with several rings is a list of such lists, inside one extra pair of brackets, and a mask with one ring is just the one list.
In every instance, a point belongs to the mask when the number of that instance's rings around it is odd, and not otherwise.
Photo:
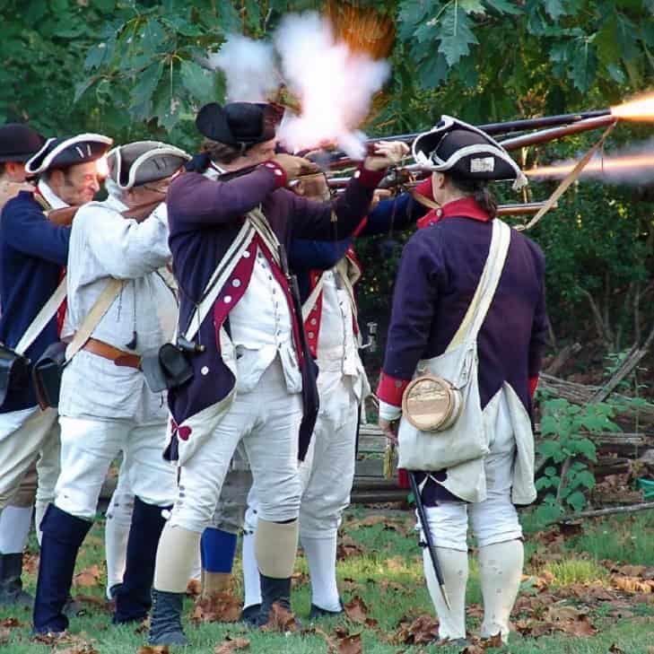
[(228, 102), (260, 102), (279, 85), (275, 51), (265, 41), (232, 34), (207, 60), (212, 68), (225, 74)]

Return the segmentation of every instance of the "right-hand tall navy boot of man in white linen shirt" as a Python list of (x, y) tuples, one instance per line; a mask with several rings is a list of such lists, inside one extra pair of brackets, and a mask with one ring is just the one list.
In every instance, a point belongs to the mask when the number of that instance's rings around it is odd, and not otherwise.
[(135, 498), (132, 525), (127, 540), (126, 569), (116, 592), (114, 624), (144, 620), (152, 603), (154, 562), (161, 530), (166, 520), (161, 511), (170, 507), (146, 504)]

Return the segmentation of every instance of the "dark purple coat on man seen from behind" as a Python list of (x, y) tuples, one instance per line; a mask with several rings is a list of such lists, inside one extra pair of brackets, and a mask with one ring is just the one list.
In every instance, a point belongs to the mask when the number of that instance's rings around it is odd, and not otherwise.
[[(492, 228), (492, 222), (449, 217), (416, 231), (406, 243), (393, 296), (385, 377), (412, 379), (421, 359), (445, 352), (475, 294)], [(508, 381), (531, 414), (528, 380), (538, 374), (546, 332), (545, 257), (536, 243), (512, 231), (478, 336), (483, 407)]]

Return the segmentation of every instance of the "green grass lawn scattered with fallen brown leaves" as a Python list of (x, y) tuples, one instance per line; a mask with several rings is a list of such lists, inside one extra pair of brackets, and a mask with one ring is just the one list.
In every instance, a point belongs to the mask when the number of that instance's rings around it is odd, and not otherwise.
[[(527, 540), (526, 579), (513, 620), (519, 631), (511, 634), (510, 645), (488, 652), (511, 654), (654, 654), (654, 514), (650, 512), (620, 519), (589, 522), (583, 531), (561, 536), (556, 530), (533, 532)], [(244, 652), (266, 654), (317, 654), (328, 651), (326, 636), (334, 654), (363, 651), (367, 654), (398, 652), (442, 652), (462, 649), (411, 644), (425, 631), (412, 628), (420, 615), (433, 618), (431, 600), (423, 583), (421, 553), (416, 545), (414, 520), (408, 511), (364, 510), (347, 512), (339, 549), (343, 557), (338, 573), (345, 602), (353, 602), (353, 619), (324, 619), (308, 623), (310, 587), (306, 563), (299, 556), (293, 609), (303, 619), (305, 633), (288, 635), (247, 630), (238, 623), (190, 622), (193, 600), (187, 600), (187, 635), (192, 646), (186, 652), (212, 654), (229, 635), (245, 638)], [(37, 548), (31, 543), (31, 552)], [(240, 565), (240, 562), (238, 562)], [(95, 566), (95, 567), (94, 567)], [(72, 639), (57, 644), (32, 640), (29, 611), (0, 612), (0, 652), (3, 654), (122, 654), (135, 653), (144, 644), (144, 632), (110, 625), (104, 603), (104, 543), (101, 519), (87, 536), (77, 571), (86, 571), (74, 594), (86, 596), (86, 615), (71, 621)], [(25, 575), (27, 589), (34, 590), (35, 575)], [(234, 593), (240, 597), (240, 570), (235, 575)], [(481, 617), (481, 593), (474, 551), (468, 586), (470, 619), (475, 634)], [(355, 606), (356, 605), (356, 606)], [(18, 618), (20, 622), (15, 624)], [(367, 619), (367, 621), (366, 621)], [(316, 626), (324, 632), (311, 632)], [(338, 630), (338, 627), (342, 627)], [(343, 641), (345, 635), (360, 634), (362, 648)], [(574, 635), (574, 634), (584, 635)], [(339, 640), (339, 638), (341, 640)], [(347, 649), (352, 646), (352, 649)], [(340, 649), (339, 649), (340, 648)], [(231, 650), (222, 650), (231, 651)], [(221, 651), (221, 654), (222, 654)], [(464, 650), (465, 651), (465, 650)], [(481, 650), (470, 649), (470, 654)]]

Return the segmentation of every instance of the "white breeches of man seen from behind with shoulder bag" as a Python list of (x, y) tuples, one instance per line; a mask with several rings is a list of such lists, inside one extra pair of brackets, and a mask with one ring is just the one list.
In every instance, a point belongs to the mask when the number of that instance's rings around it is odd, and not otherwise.
[(484, 459), (488, 495), (474, 504), (442, 501), (427, 507), (427, 520), (437, 547), (467, 552), (468, 515), (479, 547), (522, 537), (518, 512), (511, 502), (516, 442), (508, 415), (496, 422), (491, 451)]

